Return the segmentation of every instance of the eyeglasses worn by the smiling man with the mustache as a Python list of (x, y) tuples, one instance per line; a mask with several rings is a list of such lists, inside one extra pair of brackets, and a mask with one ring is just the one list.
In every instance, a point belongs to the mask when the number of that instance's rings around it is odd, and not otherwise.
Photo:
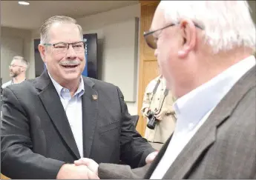
[(54, 47), (56, 53), (67, 53), (70, 45), (72, 45), (75, 53), (85, 52), (85, 41), (78, 41), (73, 43), (58, 42), (56, 44), (45, 43), (44, 45)]

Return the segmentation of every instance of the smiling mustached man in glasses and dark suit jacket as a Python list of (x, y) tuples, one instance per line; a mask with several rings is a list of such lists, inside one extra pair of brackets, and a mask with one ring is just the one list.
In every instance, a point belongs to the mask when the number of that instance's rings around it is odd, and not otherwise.
[(87, 179), (91, 170), (75, 160), (141, 167), (154, 158), (119, 87), (82, 76), (85, 42), (76, 20), (53, 16), (40, 33), (47, 70), (3, 91), (1, 173), (11, 179)]

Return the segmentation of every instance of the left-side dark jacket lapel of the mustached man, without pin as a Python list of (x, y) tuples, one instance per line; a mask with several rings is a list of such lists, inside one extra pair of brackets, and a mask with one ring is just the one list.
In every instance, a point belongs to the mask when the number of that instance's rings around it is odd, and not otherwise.
[(73, 155), (76, 156), (76, 159), (79, 159), (79, 150), (76, 146), (76, 141), (73, 137), (68, 118), (65, 114), (62, 102), (59, 99), (59, 95), (56, 92), (52, 81), (50, 81), (47, 71), (42, 73), (42, 76), (36, 79), (35, 86), (39, 90), (42, 90), (39, 93), (39, 98), (50, 116), (51, 121), (59, 131), (59, 134), (62, 136), (66, 144), (68, 144), (68, 147)]

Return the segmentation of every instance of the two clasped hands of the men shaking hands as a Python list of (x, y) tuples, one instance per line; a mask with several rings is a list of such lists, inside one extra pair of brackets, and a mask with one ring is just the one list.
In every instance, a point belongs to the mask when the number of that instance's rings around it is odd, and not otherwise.
[(74, 164), (62, 165), (56, 179), (99, 179), (98, 167), (93, 159), (79, 159)]

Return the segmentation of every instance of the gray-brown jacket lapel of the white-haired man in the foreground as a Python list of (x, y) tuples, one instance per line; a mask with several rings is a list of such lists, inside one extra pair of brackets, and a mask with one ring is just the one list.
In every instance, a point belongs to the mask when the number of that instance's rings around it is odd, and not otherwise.
[(206, 122), (168, 169), (163, 179), (187, 179), (193, 165), (216, 140), (217, 127), (229, 119), (240, 99), (255, 86), (255, 67), (240, 79), (220, 101)]

